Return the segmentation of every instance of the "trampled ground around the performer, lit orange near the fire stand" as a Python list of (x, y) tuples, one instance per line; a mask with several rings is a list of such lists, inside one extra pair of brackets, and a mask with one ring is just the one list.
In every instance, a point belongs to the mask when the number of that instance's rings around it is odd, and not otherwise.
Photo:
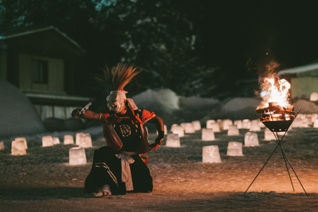
[[(0, 151), (0, 211), (318, 211), (318, 129), (293, 128), (282, 142), (309, 197), (292, 169), (293, 191), (278, 148), (251, 184), (276, 144), (258, 132), (259, 147), (244, 147), (241, 157), (226, 156), (229, 141), (244, 144), (248, 130), (239, 136), (215, 133), (215, 141), (202, 141), (201, 131), (181, 138), (181, 147), (162, 145), (150, 152), (148, 167), (154, 190), (91, 198), (84, 194), (93, 151), (106, 145), (102, 135), (86, 148), (87, 164), (68, 165), (72, 145), (41, 147), (28, 141), (27, 154), (10, 155), (10, 141)], [(149, 135), (152, 142), (156, 134)], [(165, 144), (165, 142), (164, 142)], [(202, 147), (218, 145), (221, 163), (202, 163)]]

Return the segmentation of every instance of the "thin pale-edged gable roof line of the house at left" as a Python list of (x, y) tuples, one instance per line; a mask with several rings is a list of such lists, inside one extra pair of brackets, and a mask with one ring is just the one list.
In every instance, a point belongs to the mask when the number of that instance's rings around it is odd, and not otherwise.
[(80, 51), (83, 53), (86, 53), (86, 51), (73, 39), (69, 38), (65, 33), (59, 31), (58, 28), (54, 26), (45, 26), (45, 27), (12, 27), (12, 28), (0, 28), (0, 40), (4, 39), (10, 39), (10, 38), (16, 38), (19, 36), (29, 35), (33, 33), (43, 32), (43, 31), (49, 31), (53, 30), (59, 33), (61, 36), (66, 38), (70, 43), (72, 43), (74, 46), (76, 46)]

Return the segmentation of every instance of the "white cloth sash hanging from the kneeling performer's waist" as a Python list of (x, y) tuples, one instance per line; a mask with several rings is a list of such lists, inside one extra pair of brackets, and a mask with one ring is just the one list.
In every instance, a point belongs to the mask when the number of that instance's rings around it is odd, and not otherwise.
[(126, 184), (126, 191), (134, 190), (133, 180), (131, 179), (131, 171), (129, 164), (135, 162), (135, 160), (130, 156), (136, 154), (135, 152), (120, 152), (115, 154), (117, 158), (121, 159), (121, 181)]

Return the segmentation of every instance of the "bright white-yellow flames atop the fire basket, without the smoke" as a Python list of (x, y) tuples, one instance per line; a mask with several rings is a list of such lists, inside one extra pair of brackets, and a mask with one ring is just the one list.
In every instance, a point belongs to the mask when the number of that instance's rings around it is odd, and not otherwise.
[(260, 95), (263, 102), (259, 108), (268, 107), (269, 102), (277, 102), (278, 105), (285, 108), (290, 106), (288, 104), (290, 84), (286, 79), (280, 79), (277, 76), (275, 78), (265, 78), (261, 87)]

